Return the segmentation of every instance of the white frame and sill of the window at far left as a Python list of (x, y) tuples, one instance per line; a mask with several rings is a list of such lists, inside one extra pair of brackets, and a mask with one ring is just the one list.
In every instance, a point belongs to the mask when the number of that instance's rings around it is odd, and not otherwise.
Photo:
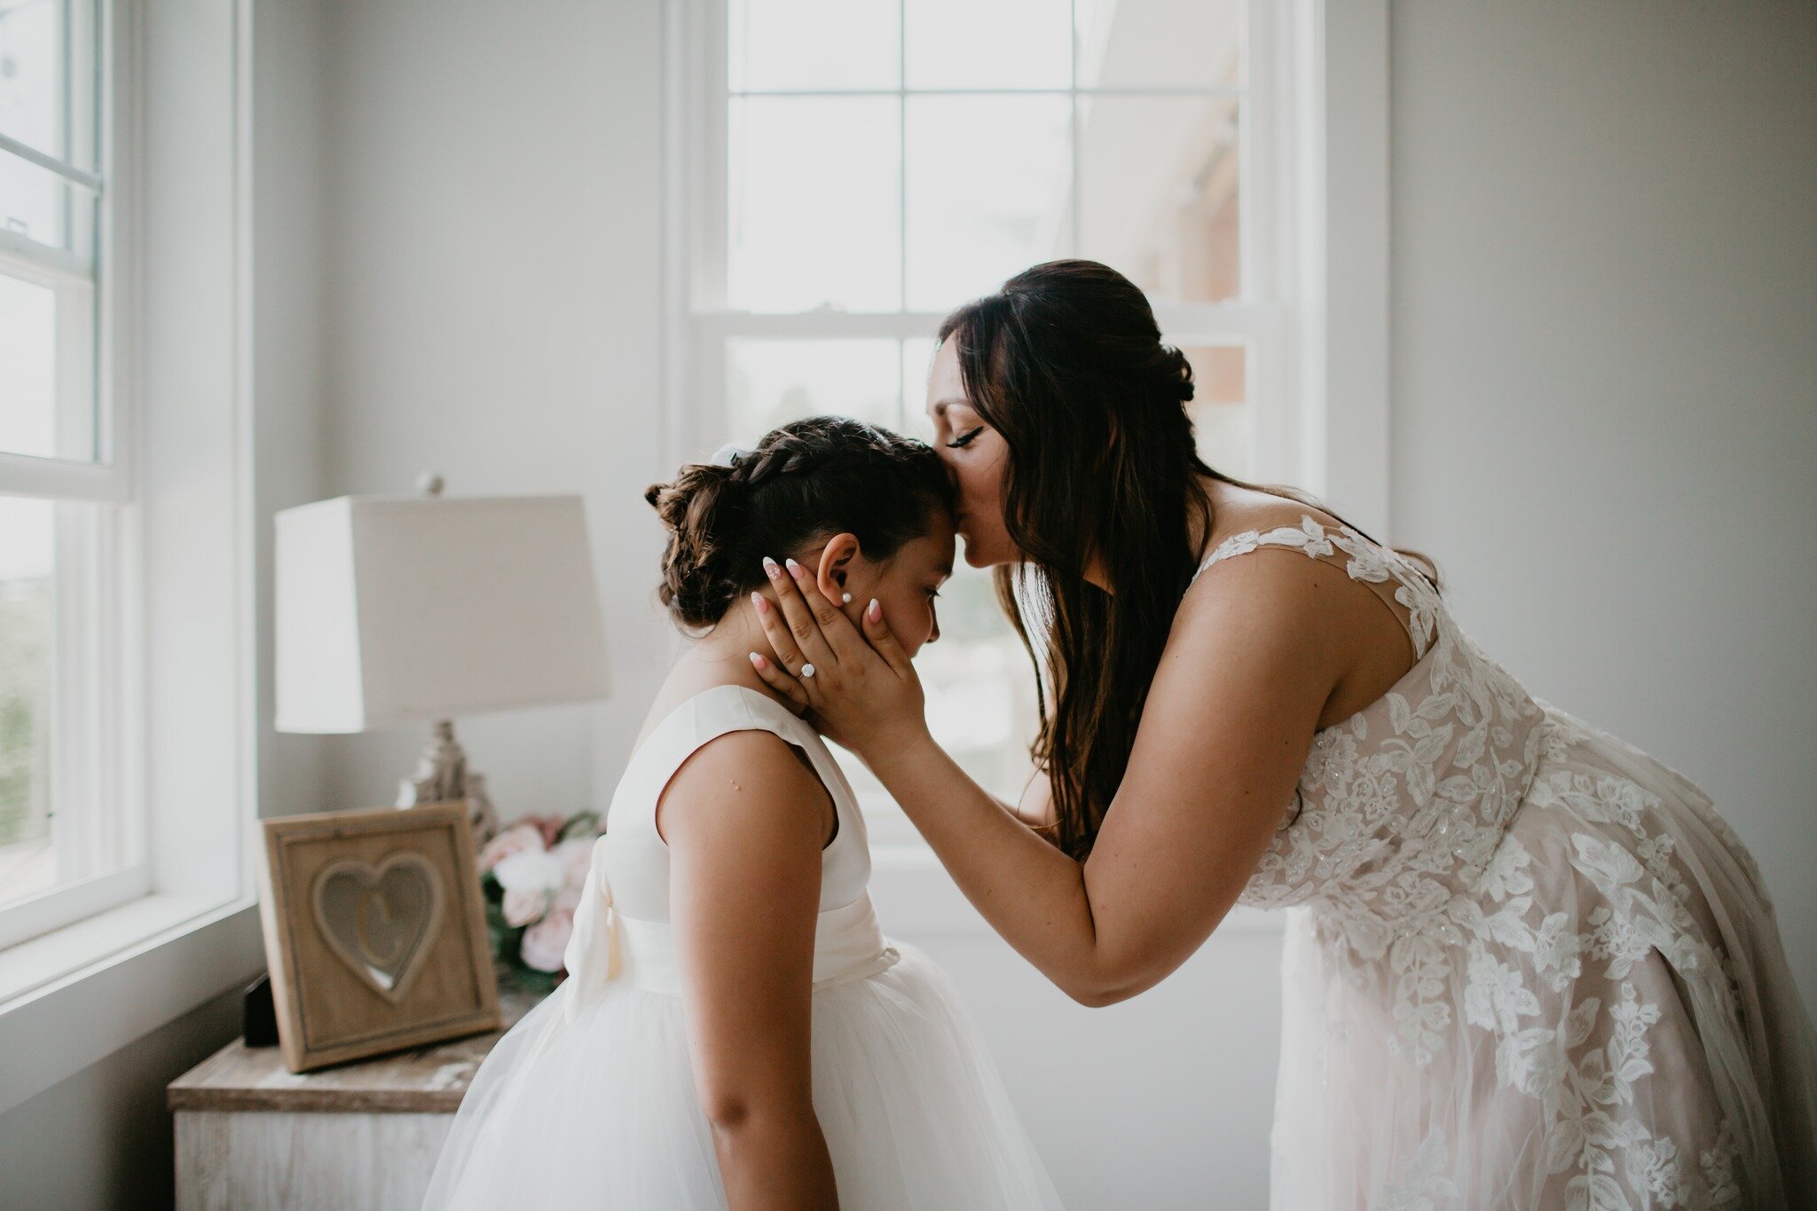
[[(124, 902), (0, 948), (0, 1113), (263, 964), (256, 910), (251, 419), (253, 0), (107, 0), (107, 470), (7, 459), (9, 487), (104, 478), (122, 527), (120, 766), (144, 862)], [(127, 202), (127, 198), (131, 202)], [(105, 289), (104, 289), (105, 294)]]

